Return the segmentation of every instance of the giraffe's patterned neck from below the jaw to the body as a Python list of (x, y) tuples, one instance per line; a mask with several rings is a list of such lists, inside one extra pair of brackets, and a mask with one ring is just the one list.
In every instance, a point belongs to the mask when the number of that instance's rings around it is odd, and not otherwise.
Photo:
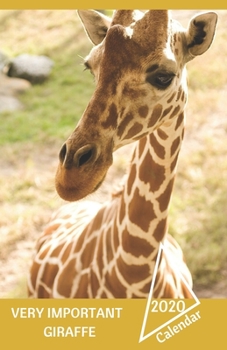
[(141, 139), (134, 151), (118, 215), (122, 254), (130, 264), (154, 260), (165, 237), (183, 134), (181, 112)]

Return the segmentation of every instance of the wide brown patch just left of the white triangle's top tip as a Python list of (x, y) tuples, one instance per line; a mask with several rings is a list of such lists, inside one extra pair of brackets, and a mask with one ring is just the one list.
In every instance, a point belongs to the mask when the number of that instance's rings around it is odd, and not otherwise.
[(145, 239), (130, 235), (128, 230), (122, 232), (122, 248), (126, 253), (146, 258), (154, 251), (154, 247)]

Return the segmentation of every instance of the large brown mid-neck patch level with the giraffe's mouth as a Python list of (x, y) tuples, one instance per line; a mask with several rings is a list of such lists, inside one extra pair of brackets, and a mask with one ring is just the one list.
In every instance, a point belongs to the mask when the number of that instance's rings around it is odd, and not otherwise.
[(139, 178), (150, 184), (150, 191), (157, 191), (165, 180), (165, 169), (157, 164), (148, 152), (139, 169)]

